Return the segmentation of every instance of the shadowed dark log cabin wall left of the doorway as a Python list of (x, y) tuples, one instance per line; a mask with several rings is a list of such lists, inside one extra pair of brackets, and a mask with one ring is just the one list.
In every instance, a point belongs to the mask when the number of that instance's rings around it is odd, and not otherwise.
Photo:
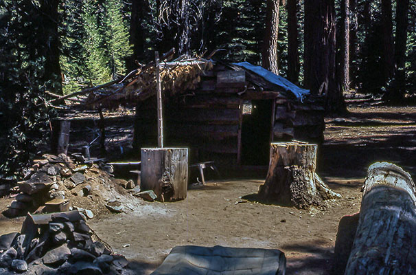
[(166, 115), (167, 140), (189, 146), (193, 162), (236, 164), (240, 129), (238, 96), (196, 93), (171, 102)]

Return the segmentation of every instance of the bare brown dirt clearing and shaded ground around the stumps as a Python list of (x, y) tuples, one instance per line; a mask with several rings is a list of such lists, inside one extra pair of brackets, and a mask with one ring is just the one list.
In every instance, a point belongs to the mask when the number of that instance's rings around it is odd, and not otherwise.
[[(343, 197), (310, 211), (244, 199), (264, 177), (211, 180), (175, 203), (143, 202), (122, 214), (97, 215), (89, 225), (137, 274), (150, 274), (176, 245), (279, 249), (287, 274), (330, 274), (338, 222), (359, 211), (368, 166), (389, 161), (416, 173), (416, 107), (349, 107), (345, 118), (327, 118), (318, 174)], [(264, 175), (265, 176), (265, 175)], [(0, 210), (11, 199), (0, 199)], [(20, 230), (23, 218), (0, 216), (0, 234)]]

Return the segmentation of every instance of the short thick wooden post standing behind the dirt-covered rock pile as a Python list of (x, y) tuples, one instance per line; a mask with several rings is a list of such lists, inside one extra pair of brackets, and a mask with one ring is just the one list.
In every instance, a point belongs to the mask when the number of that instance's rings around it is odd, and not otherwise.
[(71, 130), (71, 122), (68, 120), (56, 119), (52, 120), (51, 134), (51, 151), (59, 155), (68, 153), (69, 131)]

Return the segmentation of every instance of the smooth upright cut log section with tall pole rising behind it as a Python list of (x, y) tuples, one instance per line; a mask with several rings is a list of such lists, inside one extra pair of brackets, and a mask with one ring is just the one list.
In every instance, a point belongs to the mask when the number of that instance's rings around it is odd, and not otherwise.
[(187, 148), (142, 148), (141, 190), (153, 190), (158, 201), (186, 198), (188, 185)]

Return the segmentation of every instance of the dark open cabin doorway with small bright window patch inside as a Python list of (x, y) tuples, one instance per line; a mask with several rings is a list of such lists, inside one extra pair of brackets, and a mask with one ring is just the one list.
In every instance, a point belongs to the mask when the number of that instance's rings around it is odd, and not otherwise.
[(251, 100), (243, 104), (242, 165), (268, 165), (273, 100)]

